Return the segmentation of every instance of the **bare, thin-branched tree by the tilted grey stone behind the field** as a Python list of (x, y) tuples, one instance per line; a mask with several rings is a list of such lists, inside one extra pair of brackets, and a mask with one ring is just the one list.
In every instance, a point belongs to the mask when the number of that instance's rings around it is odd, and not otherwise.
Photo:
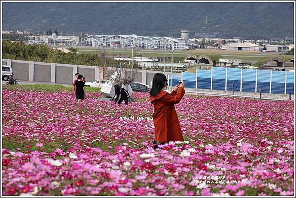
[[(92, 64), (98, 67), (101, 67), (104, 71), (104, 74), (111, 82), (111, 84), (118, 84), (118, 85), (128, 85), (133, 82), (135, 75), (134, 73), (141, 67), (140, 63), (142, 62), (142, 58), (145, 51), (143, 51), (140, 62), (135, 63), (134, 61), (127, 61), (126, 58), (126, 51), (122, 55), (115, 56), (114, 54), (108, 55), (106, 51), (97, 49), (97, 58), (96, 60), (92, 61)], [(116, 58), (116, 59), (115, 59)], [(130, 64), (133, 62), (133, 67)], [(129, 74), (127, 74), (127, 71)], [(114, 78), (112, 75), (117, 72), (117, 76)]]

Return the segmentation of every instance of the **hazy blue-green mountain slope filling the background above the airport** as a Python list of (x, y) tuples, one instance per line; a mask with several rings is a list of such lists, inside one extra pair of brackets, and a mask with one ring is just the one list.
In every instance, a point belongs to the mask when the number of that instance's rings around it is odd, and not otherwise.
[[(293, 2), (3, 2), (3, 30), (180, 37), (182, 29), (220, 38), (293, 37)], [(207, 16), (207, 22), (206, 22)]]

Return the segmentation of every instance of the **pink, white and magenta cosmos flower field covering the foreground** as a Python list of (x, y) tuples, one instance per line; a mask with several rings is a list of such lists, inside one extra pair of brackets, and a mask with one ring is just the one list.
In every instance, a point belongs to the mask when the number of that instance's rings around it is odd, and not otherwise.
[(185, 95), (184, 142), (153, 150), (148, 93), (2, 90), (3, 195), (293, 195), (292, 101)]

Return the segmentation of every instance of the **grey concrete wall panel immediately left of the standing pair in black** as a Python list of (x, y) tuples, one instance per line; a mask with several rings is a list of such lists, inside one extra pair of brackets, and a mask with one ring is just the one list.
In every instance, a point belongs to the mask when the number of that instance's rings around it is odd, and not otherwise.
[(55, 82), (62, 84), (73, 84), (73, 73), (73, 67), (57, 64), (55, 72)]

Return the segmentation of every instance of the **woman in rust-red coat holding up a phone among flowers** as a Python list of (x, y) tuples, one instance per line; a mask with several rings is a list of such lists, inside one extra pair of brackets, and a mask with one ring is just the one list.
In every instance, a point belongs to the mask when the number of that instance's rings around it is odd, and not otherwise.
[(164, 144), (169, 141), (184, 141), (174, 107), (174, 104), (179, 103), (185, 94), (184, 82), (176, 85), (169, 94), (162, 90), (166, 87), (167, 81), (164, 74), (155, 74), (150, 91), (150, 101), (154, 105), (152, 115), (155, 126), (154, 149), (157, 148), (157, 142)]

